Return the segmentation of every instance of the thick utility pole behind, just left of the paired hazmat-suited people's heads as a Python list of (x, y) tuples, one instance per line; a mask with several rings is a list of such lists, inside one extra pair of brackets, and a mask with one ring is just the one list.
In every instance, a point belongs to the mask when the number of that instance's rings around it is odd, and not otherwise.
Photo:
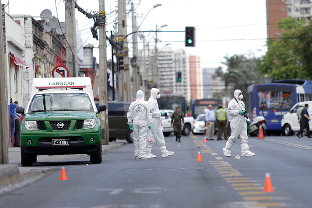
[[(128, 57), (128, 42), (127, 38), (127, 15), (126, 15), (126, 0), (118, 0), (118, 41), (122, 41), (123, 49), (118, 54), (123, 56), (124, 70), (120, 72), (122, 86), (118, 85), (118, 92), (122, 93), (122, 101), (131, 101), (130, 89), (130, 72), (129, 72), (129, 57)], [(120, 76), (119, 76), (120, 79)]]

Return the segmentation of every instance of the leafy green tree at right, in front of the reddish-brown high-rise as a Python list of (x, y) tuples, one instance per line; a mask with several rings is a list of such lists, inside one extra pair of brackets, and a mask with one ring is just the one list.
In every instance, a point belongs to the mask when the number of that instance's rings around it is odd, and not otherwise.
[[(312, 22), (294, 18), (280, 19), (278, 28), (283, 30), (279, 38), (267, 40), (268, 52), (258, 64), (262, 74), (272, 80), (312, 78)], [(308, 72), (309, 70), (309, 72)]]

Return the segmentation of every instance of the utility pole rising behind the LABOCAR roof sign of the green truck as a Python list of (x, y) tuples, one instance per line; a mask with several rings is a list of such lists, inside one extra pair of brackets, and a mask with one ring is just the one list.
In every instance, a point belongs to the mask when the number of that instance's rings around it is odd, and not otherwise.
[(70, 77), (78, 76), (75, 0), (65, 0), (66, 67)]

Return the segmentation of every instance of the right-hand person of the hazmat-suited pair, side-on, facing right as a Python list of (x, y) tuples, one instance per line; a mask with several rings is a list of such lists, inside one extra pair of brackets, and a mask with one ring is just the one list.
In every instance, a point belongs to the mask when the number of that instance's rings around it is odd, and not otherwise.
[(173, 151), (167, 151), (166, 148), (166, 143), (165, 143), (165, 137), (163, 132), (161, 131), (161, 126), (160, 126), (160, 115), (164, 115), (165, 112), (159, 112), (158, 108), (158, 103), (157, 103), (157, 98), (160, 97), (160, 91), (156, 88), (151, 89), (151, 97), (148, 99), (148, 103), (151, 107), (152, 111), (152, 134), (153, 134), (153, 139), (152, 142), (148, 142), (146, 144), (146, 152), (148, 153), (149, 156), (151, 156), (151, 151), (152, 147), (155, 143), (155, 140), (157, 141), (158, 147), (160, 149), (162, 157), (167, 157), (170, 155), (173, 155)]

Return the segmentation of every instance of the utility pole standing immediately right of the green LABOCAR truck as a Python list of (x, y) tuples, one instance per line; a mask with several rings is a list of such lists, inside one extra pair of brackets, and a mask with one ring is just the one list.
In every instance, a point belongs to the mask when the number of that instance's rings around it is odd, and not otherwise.
[[(99, 0), (98, 27), (99, 27), (99, 104), (107, 104), (107, 62), (106, 62), (106, 34), (105, 34), (105, 7), (104, 0)], [(112, 69), (114, 70), (114, 69)], [(102, 130), (102, 141), (108, 145), (108, 110), (100, 113)]]

